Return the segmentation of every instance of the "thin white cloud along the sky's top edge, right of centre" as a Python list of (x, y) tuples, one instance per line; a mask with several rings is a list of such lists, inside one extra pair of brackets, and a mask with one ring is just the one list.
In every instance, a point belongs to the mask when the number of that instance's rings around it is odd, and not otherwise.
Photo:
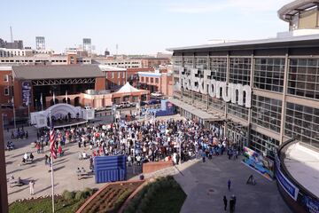
[(183, 2), (170, 4), (167, 7), (169, 12), (180, 13), (207, 13), (222, 12), (224, 10), (237, 10), (237, 12), (272, 12), (277, 11), (281, 6), (292, 0), (224, 0), (222, 2), (198, 0), (194, 2)]

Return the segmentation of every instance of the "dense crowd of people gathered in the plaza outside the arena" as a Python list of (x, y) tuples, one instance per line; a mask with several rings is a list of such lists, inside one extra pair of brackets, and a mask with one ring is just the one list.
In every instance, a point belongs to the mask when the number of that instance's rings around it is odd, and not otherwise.
[[(43, 146), (49, 143), (49, 130), (39, 130), (37, 137), (37, 153), (43, 153)], [(225, 152), (230, 159), (237, 158), (239, 147), (221, 137), (219, 131), (206, 129), (191, 120), (155, 121), (151, 118), (148, 121), (85, 124), (56, 130), (56, 150), (62, 156), (63, 146), (77, 144), (79, 159), (93, 158), (90, 159), (90, 168), (95, 156), (118, 154), (127, 155), (128, 165), (160, 160), (173, 160), (177, 164), (200, 157), (205, 162), (206, 158), (212, 159), (212, 156)]]

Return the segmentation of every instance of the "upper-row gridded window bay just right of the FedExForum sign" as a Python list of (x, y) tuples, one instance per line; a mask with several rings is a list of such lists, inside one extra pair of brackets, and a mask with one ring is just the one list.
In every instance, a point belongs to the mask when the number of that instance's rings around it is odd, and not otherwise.
[(253, 86), (261, 90), (283, 92), (284, 59), (255, 59)]

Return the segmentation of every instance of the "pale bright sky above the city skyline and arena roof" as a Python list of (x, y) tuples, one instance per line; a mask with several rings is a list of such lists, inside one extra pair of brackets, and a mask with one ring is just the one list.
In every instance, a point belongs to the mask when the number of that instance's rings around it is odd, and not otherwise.
[(292, 0), (2, 0), (0, 37), (64, 51), (92, 39), (97, 53), (143, 54), (210, 39), (249, 40), (287, 31), (277, 10)]

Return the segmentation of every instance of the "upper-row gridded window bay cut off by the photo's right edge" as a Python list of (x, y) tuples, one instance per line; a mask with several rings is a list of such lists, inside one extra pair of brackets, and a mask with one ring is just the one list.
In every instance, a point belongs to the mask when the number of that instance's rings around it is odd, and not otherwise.
[(319, 59), (291, 59), (288, 93), (319, 99)]

